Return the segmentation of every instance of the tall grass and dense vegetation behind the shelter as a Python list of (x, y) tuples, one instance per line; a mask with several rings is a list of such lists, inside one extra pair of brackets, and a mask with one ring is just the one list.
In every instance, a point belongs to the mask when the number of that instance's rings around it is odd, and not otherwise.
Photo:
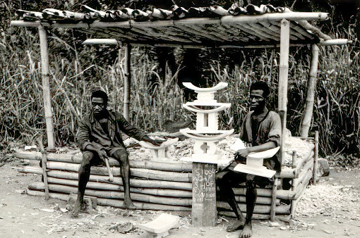
[[(101, 7), (104, 2), (111, 6), (112, 1), (84, 2)], [(144, 2), (146, 5), (150, 1)], [(291, 6), (292, 2), (284, 4)], [(124, 4), (129, 2), (124, 1)], [(78, 6), (79, 3), (73, 8)], [(41, 134), (46, 134), (37, 30), (12, 28), (9, 23), (16, 19), (14, 12), (18, 8), (41, 11), (48, 7), (71, 8), (68, 1), (50, 1), (47, 4), (44, 1), (42, 4), (3, 1), (0, 5), (0, 142), (3, 146), (11, 141), (32, 144)], [(317, 10), (316, 6), (308, 8)], [(359, 42), (354, 33), (354, 18), (337, 23), (324, 23), (323, 31), (333, 37), (352, 39), (354, 44), (320, 47), (316, 104), (310, 135), (319, 130), (320, 149), (325, 155), (340, 151), (354, 155), (358, 153), (360, 130)], [(49, 31), (50, 84), (58, 146), (74, 142), (79, 119), (88, 108), (91, 87), (103, 87), (109, 93), (109, 107), (122, 111), (124, 49), (83, 46), (80, 43), (86, 37), (72, 30)], [(287, 127), (293, 135), (297, 135), (304, 111), (310, 52), (307, 47), (292, 48), (289, 58)], [(167, 121), (191, 120), (193, 115), (181, 108), (186, 99), (177, 83), (179, 77), (184, 80), (184, 75), (201, 77), (203, 84), (229, 82), (229, 87), (219, 96), (219, 101), (232, 102), (231, 110), (221, 115), (224, 128), (239, 130), (248, 110), (248, 85), (254, 80), (265, 80), (270, 84), (273, 89), (270, 107), (276, 108), (277, 50), (193, 50), (191, 54), (196, 56), (196, 61), (193, 58), (188, 60), (188, 52), (175, 49), (176, 67), (172, 63), (162, 68), (159, 63), (162, 58), (157, 49), (133, 48), (130, 116), (133, 125), (150, 132), (164, 130)]]

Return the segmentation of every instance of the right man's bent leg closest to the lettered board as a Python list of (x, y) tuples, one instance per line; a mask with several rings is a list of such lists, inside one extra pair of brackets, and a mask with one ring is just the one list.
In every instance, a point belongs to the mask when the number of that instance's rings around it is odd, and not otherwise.
[(244, 215), (241, 213), (240, 208), (235, 200), (235, 194), (232, 190), (232, 181), (231, 181), (232, 172), (230, 171), (222, 171), (219, 173), (216, 173), (215, 179), (216, 184), (219, 187), (220, 197), (227, 201), (232, 208), (232, 211), (234, 211), (236, 215), (236, 222), (232, 225), (229, 225), (227, 227), (227, 232), (234, 232), (238, 229), (241, 229), (244, 226), (245, 218)]

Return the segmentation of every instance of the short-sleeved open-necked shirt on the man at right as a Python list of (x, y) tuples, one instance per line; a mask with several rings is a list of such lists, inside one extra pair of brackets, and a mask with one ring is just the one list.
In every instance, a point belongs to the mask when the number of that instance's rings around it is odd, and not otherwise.
[[(275, 142), (276, 146), (280, 146), (281, 120), (275, 111), (265, 111), (264, 113), (251, 116), (253, 111), (246, 114), (243, 124), (241, 125), (240, 139), (250, 143), (252, 146), (265, 144), (266, 142)], [(252, 121), (258, 122), (258, 131), (253, 132)], [(265, 159), (266, 168), (271, 170), (280, 170), (280, 161), (276, 156)]]

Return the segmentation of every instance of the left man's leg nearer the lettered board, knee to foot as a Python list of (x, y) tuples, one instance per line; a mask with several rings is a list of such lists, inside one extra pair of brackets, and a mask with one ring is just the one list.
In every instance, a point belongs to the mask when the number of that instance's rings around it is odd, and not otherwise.
[(136, 209), (130, 197), (130, 165), (128, 163), (128, 153), (126, 149), (116, 149), (112, 156), (120, 163), (121, 180), (124, 185), (124, 208)]

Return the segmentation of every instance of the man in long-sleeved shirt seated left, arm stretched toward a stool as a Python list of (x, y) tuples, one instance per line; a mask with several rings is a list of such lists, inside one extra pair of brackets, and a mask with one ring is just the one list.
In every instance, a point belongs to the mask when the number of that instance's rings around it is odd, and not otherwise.
[(160, 142), (150, 139), (130, 125), (120, 113), (107, 111), (107, 94), (100, 89), (92, 92), (91, 111), (81, 120), (77, 140), (80, 150), (83, 151), (83, 161), (79, 168), (78, 198), (73, 208), (73, 217), (77, 217), (83, 205), (86, 184), (90, 177), (92, 165), (101, 164), (105, 158), (114, 158), (119, 161), (121, 179), (124, 185), (124, 208), (135, 209), (130, 197), (129, 177), (130, 166), (128, 153), (121, 138), (121, 132), (135, 139), (150, 142), (160, 146)]

